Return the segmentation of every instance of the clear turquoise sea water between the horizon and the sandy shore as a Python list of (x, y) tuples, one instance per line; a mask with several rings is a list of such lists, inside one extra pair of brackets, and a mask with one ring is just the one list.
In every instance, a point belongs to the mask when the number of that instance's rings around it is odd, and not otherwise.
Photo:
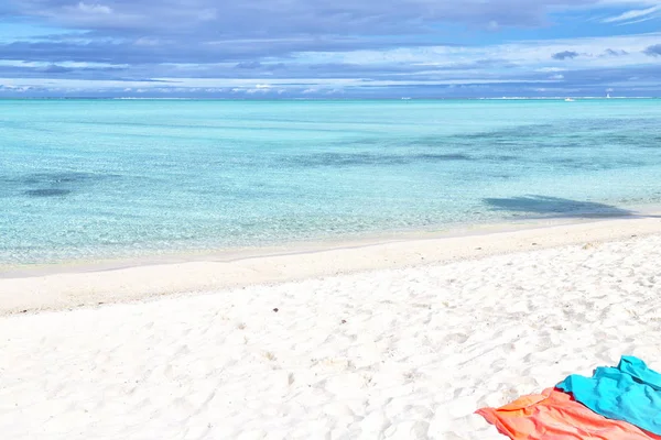
[(618, 215), (661, 101), (0, 101), (0, 264)]

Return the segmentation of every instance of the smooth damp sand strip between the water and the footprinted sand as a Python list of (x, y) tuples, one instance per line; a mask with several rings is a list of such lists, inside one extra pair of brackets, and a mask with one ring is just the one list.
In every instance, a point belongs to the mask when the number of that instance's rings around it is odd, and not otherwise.
[[(272, 285), (661, 233), (661, 216), (563, 218), (466, 226), (384, 240), (307, 243), (161, 261), (54, 265), (0, 273), (0, 316), (165, 295)], [(191, 255), (186, 255), (191, 256)], [(176, 260), (176, 258), (181, 260)]]

